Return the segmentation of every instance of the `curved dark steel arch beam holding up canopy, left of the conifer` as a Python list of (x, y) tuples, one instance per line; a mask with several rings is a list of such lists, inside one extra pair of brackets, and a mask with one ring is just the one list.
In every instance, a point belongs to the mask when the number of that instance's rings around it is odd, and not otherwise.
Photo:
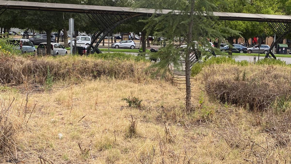
[[(107, 35), (109, 34), (109, 32), (111, 31), (111, 29), (115, 29), (117, 26), (119, 26), (119, 25), (125, 23), (125, 22), (128, 21), (128, 20), (131, 20), (131, 19), (134, 19), (134, 18), (137, 18), (137, 17), (147, 16), (147, 15), (148, 15), (147, 13), (142, 13), (142, 14), (132, 15), (132, 17), (124, 18), (124, 19), (118, 21), (117, 23), (115, 23), (112, 27), (109, 27), (108, 29), (104, 29), (104, 31), (103, 31), (103, 36), (102, 36), (102, 37), (97, 41), (96, 45), (95, 45), (94, 48), (93, 48), (93, 52), (95, 52), (95, 51), (97, 50), (97, 53), (101, 53), (101, 51), (98, 49), (98, 46), (99, 46), (99, 44), (101, 43), (101, 41), (105, 38), (105, 36), (107, 36)], [(99, 33), (101, 34), (102, 31), (100, 31)], [(99, 33), (98, 33), (98, 34), (99, 34)], [(99, 35), (100, 35), (100, 34), (99, 34)], [(99, 36), (99, 35), (98, 35), (98, 36)], [(96, 35), (95, 38), (98, 37), (98, 36)], [(95, 40), (96, 40), (96, 39), (95, 39)], [(92, 42), (91, 42), (91, 44), (93, 45)], [(109, 43), (108, 43), (108, 44), (109, 44)], [(91, 45), (90, 45), (90, 46), (91, 46)], [(99, 50), (99, 52), (98, 52), (98, 50)]]

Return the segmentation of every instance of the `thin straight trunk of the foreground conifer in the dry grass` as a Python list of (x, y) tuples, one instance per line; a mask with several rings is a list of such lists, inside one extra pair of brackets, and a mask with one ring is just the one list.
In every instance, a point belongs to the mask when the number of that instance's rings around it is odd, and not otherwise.
[(186, 80), (186, 110), (191, 110), (191, 70), (190, 70), (190, 53), (192, 43), (192, 28), (193, 28), (193, 13), (194, 13), (195, 0), (191, 1), (191, 11), (189, 13), (190, 22), (188, 25), (188, 50), (185, 55), (185, 80)]

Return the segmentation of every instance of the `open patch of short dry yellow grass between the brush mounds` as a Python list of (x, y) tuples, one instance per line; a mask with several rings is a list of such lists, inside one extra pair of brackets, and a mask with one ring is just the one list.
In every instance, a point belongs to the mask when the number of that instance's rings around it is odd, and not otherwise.
[[(217, 67), (227, 71), (229, 66)], [(196, 111), (188, 115), (181, 110), (184, 102), (176, 99), (184, 90), (164, 81), (102, 77), (70, 86), (55, 82), (51, 91), (29, 95), (25, 119), (12, 112), (18, 126), (17, 158), (40, 163), (42, 155), (53, 163), (74, 164), (290, 162), (290, 146), (276, 146), (276, 139), (265, 131), (268, 119), (273, 119), (268, 113), (210, 102), (200, 90), (200, 77), (193, 81)], [(129, 95), (142, 99), (144, 107), (126, 107), (121, 99)], [(8, 89), (0, 96), (6, 104), (15, 97), (12, 110), (23, 109), (25, 93)], [(131, 115), (137, 121), (137, 136), (128, 138)]]

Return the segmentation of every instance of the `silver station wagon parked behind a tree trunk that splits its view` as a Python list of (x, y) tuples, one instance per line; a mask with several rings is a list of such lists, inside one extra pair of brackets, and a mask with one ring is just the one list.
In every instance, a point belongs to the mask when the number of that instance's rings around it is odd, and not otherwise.
[[(40, 43), (36, 49), (37, 54), (39, 55), (46, 55), (47, 54), (47, 42)], [(67, 55), (68, 52), (66, 48), (61, 45), (60, 43), (51, 43), (51, 55)]]

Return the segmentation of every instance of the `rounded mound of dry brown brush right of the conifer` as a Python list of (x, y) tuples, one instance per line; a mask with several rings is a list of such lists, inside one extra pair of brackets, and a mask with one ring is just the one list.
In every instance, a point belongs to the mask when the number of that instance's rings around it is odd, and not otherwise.
[[(284, 70), (285, 67), (277, 66), (269, 71), (266, 70), (269, 68), (255, 65), (244, 68), (230, 65), (229, 69), (223, 68), (220, 71), (227, 71), (223, 74), (214, 70), (219, 69), (218, 66), (208, 68), (203, 74), (206, 93), (220, 102), (262, 110), (269, 107), (277, 97), (289, 99), (290, 69)], [(251, 73), (248, 74), (248, 71)]]

